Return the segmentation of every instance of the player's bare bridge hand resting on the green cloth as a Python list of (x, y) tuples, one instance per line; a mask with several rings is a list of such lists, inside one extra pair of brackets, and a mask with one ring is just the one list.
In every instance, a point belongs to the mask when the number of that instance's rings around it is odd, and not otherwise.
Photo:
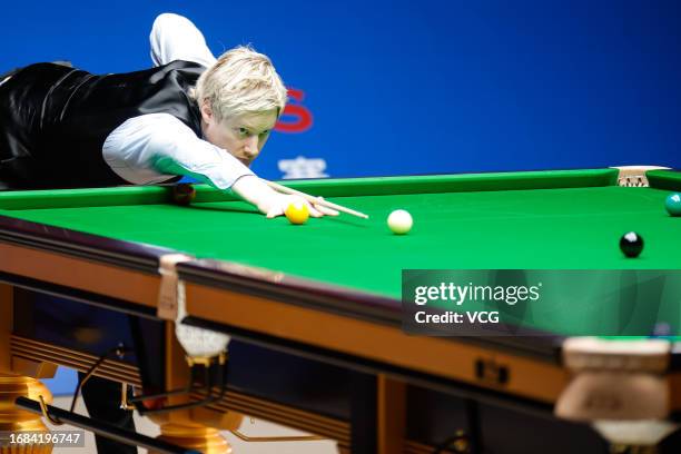
[[(338, 216), (338, 211), (335, 209), (323, 207), (317, 204), (309, 204), (298, 196), (277, 193), (255, 176), (239, 178), (231, 189), (244, 200), (255, 205), (260, 213), (267, 216), (267, 218), (284, 215), (284, 211), (286, 211), (286, 208), (290, 204), (307, 205), (309, 216), (312, 217)], [(319, 199), (323, 200), (322, 197), (319, 197)]]

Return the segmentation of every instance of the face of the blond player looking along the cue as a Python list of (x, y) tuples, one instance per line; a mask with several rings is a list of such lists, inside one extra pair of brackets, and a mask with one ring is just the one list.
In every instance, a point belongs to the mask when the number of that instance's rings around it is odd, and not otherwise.
[(276, 109), (264, 112), (244, 114), (217, 121), (206, 105), (201, 108), (204, 137), (210, 144), (229, 151), (234, 157), (250, 166), (269, 138), (277, 122)]

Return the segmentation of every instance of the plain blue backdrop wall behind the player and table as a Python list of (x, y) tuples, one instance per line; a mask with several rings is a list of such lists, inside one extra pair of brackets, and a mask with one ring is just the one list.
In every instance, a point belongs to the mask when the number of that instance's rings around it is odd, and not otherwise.
[(675, 0), (11, 2), (0, 63), (142, 69), (164, 11), (296, 89), (265, 177), (681, 167)]

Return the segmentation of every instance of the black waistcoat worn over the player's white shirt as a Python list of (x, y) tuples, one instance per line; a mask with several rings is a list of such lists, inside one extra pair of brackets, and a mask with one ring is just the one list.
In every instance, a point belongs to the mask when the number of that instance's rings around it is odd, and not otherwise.
[(127, 119), (170, 114), (200, 137), (188, 90), (204, 67), (187, 61), (95, 76), (53, 63), (22, 68), (0, 86), (0, 180), (10, 188), (126, 184), (101, 148)]

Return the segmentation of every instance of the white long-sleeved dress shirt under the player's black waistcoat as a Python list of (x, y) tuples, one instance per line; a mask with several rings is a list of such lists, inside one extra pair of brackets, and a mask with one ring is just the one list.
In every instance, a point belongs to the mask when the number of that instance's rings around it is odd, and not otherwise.
[[(216, 61), (201, 32), (181, 16), (160, 14), (149, 40), (155, 66), (186, 60), (210, 67)], [(197, 137), (169, 114), (128, 119), (107, 137), (102, 156), (119, 177), (135, 185), (184, 175), (228, 189), (240, 177), (254, 175), (228, 151)]]

